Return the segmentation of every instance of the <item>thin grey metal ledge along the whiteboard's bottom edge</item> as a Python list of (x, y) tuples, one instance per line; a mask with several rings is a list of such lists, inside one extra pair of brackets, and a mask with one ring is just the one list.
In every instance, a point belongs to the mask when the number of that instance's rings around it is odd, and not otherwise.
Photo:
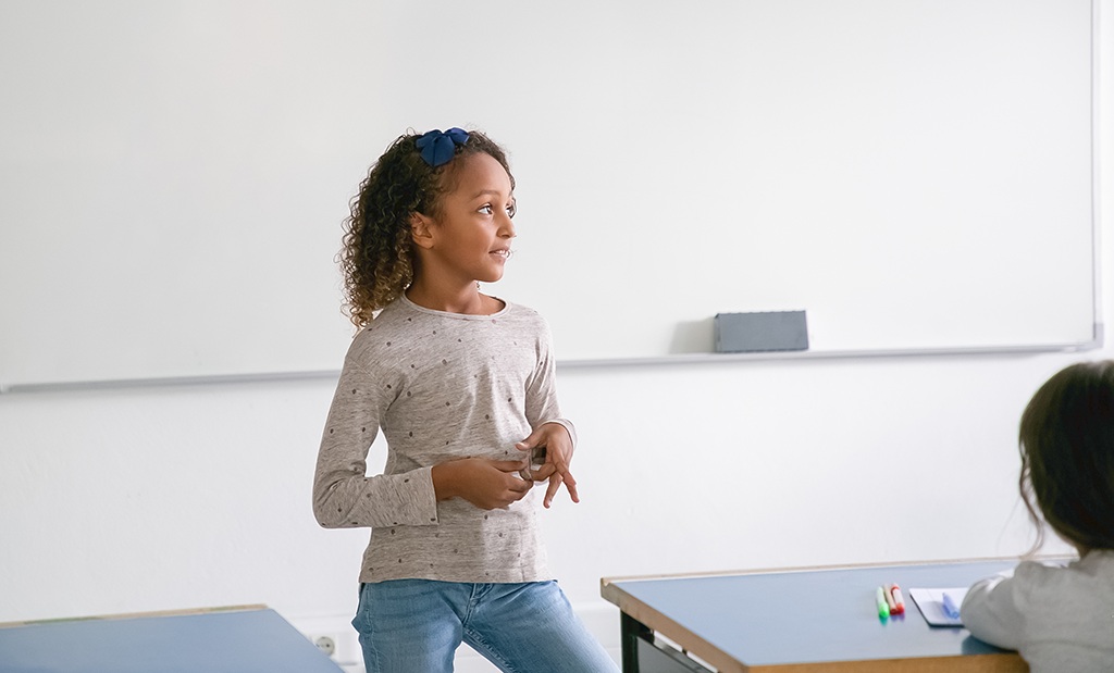
[[(1095, 338), (1083, 343), (1055, 343), (1034, 345), (999, 345), (938, 349), (877, 349), (846, 351), (770, 351), (762, 353), (678, 353), (656, 358), (600, 358), (590, 360), (558, 360), (558, 369), (587, 369), (597, 367), (632, 367), (659, 364), (705, 364), (716, 362), (747, 362), (776, 360), (851, 360), (863, 358), (930, 358), (957, 355), (1027, 355), (1038, 353), (1082, 353), (1103, 347), (1103, 325), (1095, 324)], [(271, 383), (287, 381), (335, 380), (340, 370), (295, 371), (254, 374), (213, 374), (196, 377), (166, 377), (152, 379), (116, 379), (106, 381), (60, 381), (51, 383), (0, 383), (0, 394), (21, 392), (59, 392), (81, 390), (114, 390), (127, 388), (165, 388), (179, 386), (214, 386), (227, 383)]]

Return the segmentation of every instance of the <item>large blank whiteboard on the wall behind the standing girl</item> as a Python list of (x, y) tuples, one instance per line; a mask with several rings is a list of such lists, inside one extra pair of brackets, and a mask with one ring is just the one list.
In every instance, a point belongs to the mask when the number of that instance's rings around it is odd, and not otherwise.
[(1088, 0), (0, 3), (0, 386), (339, 368), (349, 198), (408, 128), (518, 181), (485, 291), (564, 361), (1084, 343)]

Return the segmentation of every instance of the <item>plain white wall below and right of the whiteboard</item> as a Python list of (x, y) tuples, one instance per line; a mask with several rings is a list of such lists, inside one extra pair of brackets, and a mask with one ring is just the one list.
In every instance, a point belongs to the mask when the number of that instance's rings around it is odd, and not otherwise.
[[(1111, 316), (1110, 217), (1103, 233)], [(602, 576), (1018, 554), (1020, 410), (1068, 362), (1111, 357), (561, 369), (583, 501), (544, 517), (551, 566), (614, 647)], [(343, 630), (365, 533), (320, 529), (309, 495), (331, 394), (315, 380), (0, 396), (0, 622), (265, 603)]]

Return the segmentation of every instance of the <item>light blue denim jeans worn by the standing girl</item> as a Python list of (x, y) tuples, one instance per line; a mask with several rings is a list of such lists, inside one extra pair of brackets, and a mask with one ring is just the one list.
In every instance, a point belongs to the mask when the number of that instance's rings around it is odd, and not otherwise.
[(368, 673), (449, 673), (461, 642), (505, 673), (618, 671), (556, 582), (364, 584), (352, 625)]

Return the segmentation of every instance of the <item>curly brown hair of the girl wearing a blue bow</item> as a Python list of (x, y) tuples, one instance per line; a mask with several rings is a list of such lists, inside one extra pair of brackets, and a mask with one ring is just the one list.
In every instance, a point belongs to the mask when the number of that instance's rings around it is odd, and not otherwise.
[(368, 172), (360, 192), (350, 203), (338, 262), (344, 274), (344, 312), (356, 329), (375, 312), (399, 299), (413, 282), (416, 253), (410, 234), (414, 213), (437, 218), (441, 196), (456, 188), (453, 175), (461, 158), (488, 154), (510, 177), (507, 155), (480, 131), (468, 131), (468, 140), (456, 146), (452, 159), (431, 167), (418, 150), (420, 134), (400, 136)]

